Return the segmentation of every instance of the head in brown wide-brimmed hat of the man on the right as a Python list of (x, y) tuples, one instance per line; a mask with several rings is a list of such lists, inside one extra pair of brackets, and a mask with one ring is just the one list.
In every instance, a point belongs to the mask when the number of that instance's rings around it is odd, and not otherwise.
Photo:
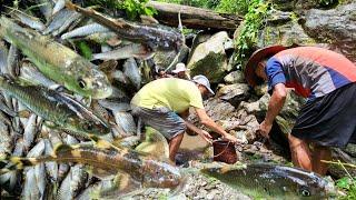
[(268, 80), (265, 72), (267, 60), (286, 49), (287, 48), (283, 46), (271, 46), (255, 51), (245, 68), (245, 78), (248, 84), (255, 87), (261, 84), (265, 80)]

